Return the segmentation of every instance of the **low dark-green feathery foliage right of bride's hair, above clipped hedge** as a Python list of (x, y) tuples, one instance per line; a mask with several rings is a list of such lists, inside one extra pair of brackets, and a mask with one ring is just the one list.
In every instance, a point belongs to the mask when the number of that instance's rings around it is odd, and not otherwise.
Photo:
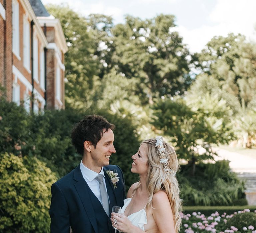
[(232, 205), (244, 197), (244, 184), (230, 171), (229, 161), (199, 163), (191, 176), (191, 167), (182, 166), (178, 175), (184, 205)]

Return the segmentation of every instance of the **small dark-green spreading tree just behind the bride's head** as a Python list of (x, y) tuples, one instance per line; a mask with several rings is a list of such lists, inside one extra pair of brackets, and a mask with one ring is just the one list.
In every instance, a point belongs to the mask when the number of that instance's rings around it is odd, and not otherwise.
[(192, 111), (184, 100), (160, 100), (153, 107), (156, 116), (153, 125), (170, 137), (178, 158), (189, 161), (192, 174), (195, 163), (203, 159), (213, 159), (210, 143), (223, 140), (211, 126), (204, 112)]

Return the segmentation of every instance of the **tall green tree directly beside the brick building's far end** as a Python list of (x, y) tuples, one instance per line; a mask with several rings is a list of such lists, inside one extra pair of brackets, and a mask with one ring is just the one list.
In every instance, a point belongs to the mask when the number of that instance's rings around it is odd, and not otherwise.
[(78, 15), (66, 5), (48, 5), (50, 14), (60, 19), (68, 45), (65, 54), (65, 102), (66, 108), (89, 108), (93, 103), (93, 83), (100, 73), (100, 58), (96, 55), (98, 45), (91, 34), (85, 17)]

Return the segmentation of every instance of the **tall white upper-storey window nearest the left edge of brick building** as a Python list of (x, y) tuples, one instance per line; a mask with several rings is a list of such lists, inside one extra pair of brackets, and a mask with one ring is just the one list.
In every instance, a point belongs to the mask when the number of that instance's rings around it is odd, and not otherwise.
[(12, 52), (20, 58), (20, 16), (19, 16), (19, 3), (17, 0), (12, 0)]

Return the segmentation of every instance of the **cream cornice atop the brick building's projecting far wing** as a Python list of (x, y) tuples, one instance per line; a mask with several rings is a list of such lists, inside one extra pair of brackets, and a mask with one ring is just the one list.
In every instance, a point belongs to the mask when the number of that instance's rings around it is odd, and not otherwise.
[(66, 44), (65, 36), (64, 36), (59, 19), (55, 19), (53, 16), (49, 16), (49, 17), (38, 16), (37, 19), (41, 27), (43, 27), (44, 24), (47, 27), (54, 27), (56, 32), (56, 39), (61, 46), (61, 50), (63, 51), (63, 53), (66, 53), (68, 51), (68, 46)]

